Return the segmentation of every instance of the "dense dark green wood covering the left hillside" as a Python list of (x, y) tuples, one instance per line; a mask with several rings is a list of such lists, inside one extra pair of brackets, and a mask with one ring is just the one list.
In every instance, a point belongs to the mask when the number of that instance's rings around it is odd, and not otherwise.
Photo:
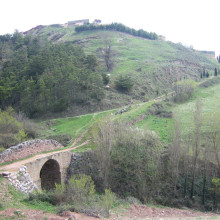
[(71, 104), (100, 101), (103, 77), (97, 58), (71, 44), (38, 37), (0, 36), (0, 108), (12, 106), (29, 117), (59, 112)]

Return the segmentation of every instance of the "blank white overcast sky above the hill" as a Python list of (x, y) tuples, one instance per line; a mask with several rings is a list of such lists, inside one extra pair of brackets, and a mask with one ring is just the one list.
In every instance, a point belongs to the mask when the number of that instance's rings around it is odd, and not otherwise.
[(220, 0), (0, 0), (0, 34), (78, 19), (119, 22), (220, 54)]

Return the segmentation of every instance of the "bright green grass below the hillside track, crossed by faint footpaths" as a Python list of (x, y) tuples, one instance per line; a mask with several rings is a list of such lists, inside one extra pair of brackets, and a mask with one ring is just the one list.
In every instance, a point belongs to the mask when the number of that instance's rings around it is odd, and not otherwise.
[[(75, 138), (83, 135), (82, 140), (78, 143), (80, 144), (90, 138), (90, 128), (95, 123), (105, 118), (111, 118), (113, 120), (122, 120), (125, 122), (125, 124), (132, 124), (133, 127), (153, 130), (159, 135), (162, 141), (167, 143), (169, 141), (170, 126), (172, 126), (173, 123), (172, 119), (156, 117), (147, 117), (143, 119), (143, 116), (145, 117), (147, 115), (147, 110), (153, 103), (153, 101), (150, 101), (142, 104), (126, 106), (124, 108), (126, 108), (127, 111), (123, 114), (115, 114), (116, 112), (119, 112), (120, 109), (122, 109), (119, 108), (99, 113), (82, 115), (79, 117), (54, 119), (52, 122), (53, 134), (71, 134), (73, 141)], [(142, 120), (140, 121), (140, 119)], [(45, 133), (48, 133), (48, 131)], [(72, 143), (70, 143), (70, 145), (71, 144)], [(80, 153), (94, 148), (94, 143), (90, 141), (88, 144), (78, 149), (72, 150), (72, 152)]]

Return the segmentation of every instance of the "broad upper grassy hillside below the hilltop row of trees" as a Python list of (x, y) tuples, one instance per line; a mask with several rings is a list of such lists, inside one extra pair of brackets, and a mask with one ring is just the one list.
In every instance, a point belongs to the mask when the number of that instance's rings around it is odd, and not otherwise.
[[(170, 91), (176, 80), (193, 78), (199, 81), (203, 68), (212, 75), (214, 68), (219, 68), (215, 59), (181, 44), (148, 40), (116, 31), (76, 33), (74, 28), (45, 26), (29, 34), (47, 37), (55, 43), (71, 42), (82, 46), (87, 54), (97, 55), (100, 72), (106, 72), (103, 59), (105, 41), (111, 42), (114, 68), (110, 72), (110, 88), (106, 90), (106, 98), (100, 103), (99, 110), (123, 106), (132, 100), (147, 101)], [(120, 93), (115, 89), (114, 81), (120, 74), (132, 77), (134, 87), (131, 92)]]

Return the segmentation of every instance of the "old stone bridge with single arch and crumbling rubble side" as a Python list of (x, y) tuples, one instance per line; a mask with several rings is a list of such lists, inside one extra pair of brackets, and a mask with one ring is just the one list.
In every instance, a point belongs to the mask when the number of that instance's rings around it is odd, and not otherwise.
[[(24, 142), (3, 152), (0, 155), (0, 162), (8, 161), (9, 158), (14, 160), (14, 156), (22, 155), (22, 152), (24, 155), (27, 155), (27, 152), (39, 152), (39, 148), (45, 146), (45, 143), (51, 149), (63, 147), (58, 142), (50, 140)], [(0, 166), (0, 175), (8, 178), (12, 185), (24, 193), (30, 193), (34, 189), (53, 189), (56, 183), (60, 184), (66, 180), (67, 169), (73, 155), (70, 150), (71, 148), (37, 154), (28, 159)]]

